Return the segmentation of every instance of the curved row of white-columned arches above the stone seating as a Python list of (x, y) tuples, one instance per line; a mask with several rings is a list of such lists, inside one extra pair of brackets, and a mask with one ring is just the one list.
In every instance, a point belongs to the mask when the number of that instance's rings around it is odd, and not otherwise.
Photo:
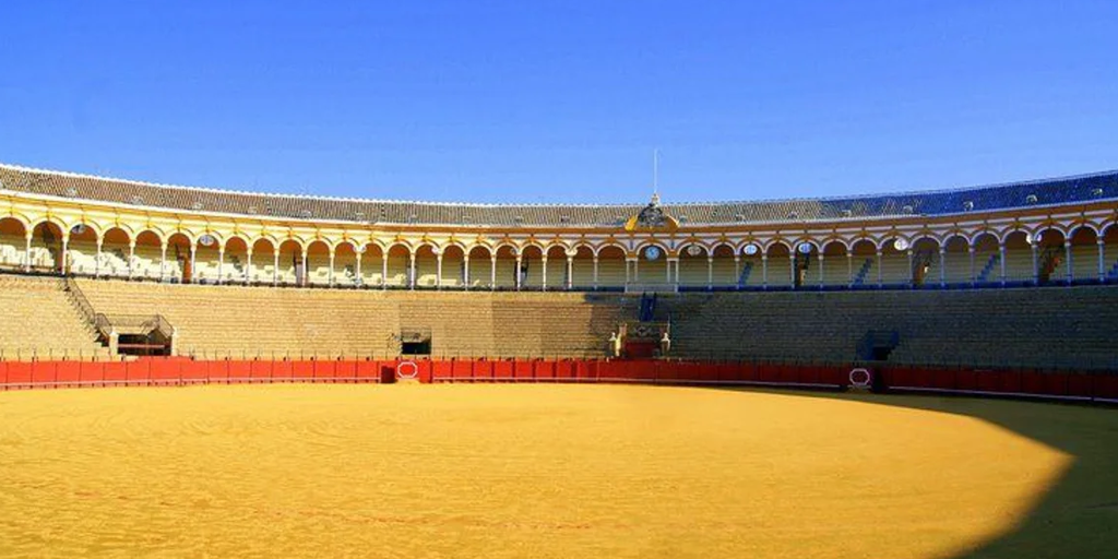
[(1118, 226), (765, 243), (387, 246), (0, 219), (0, 266), (183, 283), (407, 288), (870, 287), (1118, 281)]

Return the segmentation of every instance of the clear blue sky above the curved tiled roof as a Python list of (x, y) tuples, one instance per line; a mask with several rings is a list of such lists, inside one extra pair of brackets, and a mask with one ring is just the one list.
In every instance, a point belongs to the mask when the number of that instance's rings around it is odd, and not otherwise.
[(1118, 1), (10, 1), (0, 161), (665, 201), (1118, 168)]

